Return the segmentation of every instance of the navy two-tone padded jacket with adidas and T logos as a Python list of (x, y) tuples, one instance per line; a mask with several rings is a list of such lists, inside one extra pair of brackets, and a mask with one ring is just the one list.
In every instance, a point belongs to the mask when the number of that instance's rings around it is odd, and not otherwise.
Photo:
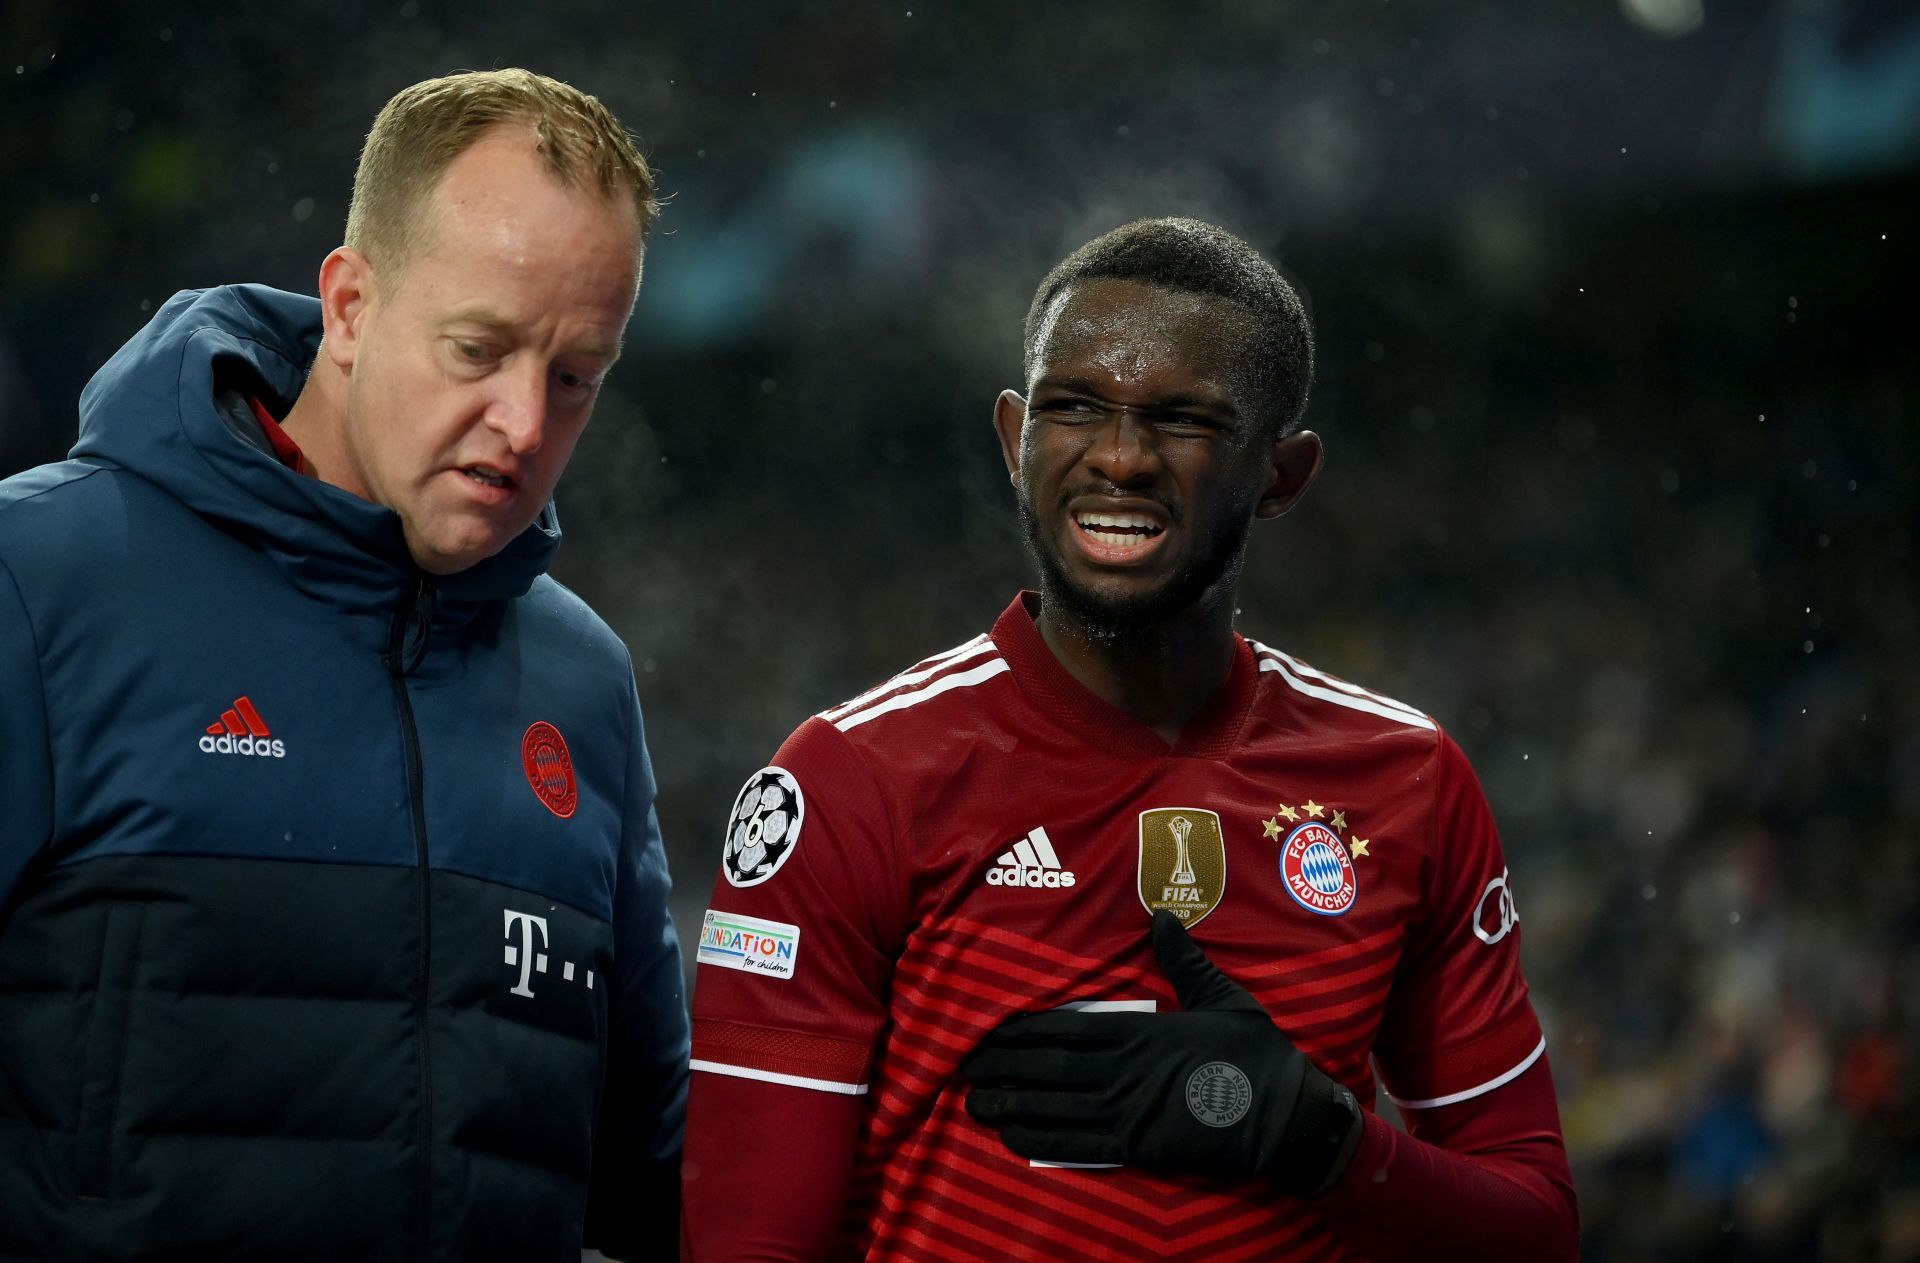
[[(687, 1019), (626, 651), (248, 441), (177, 296), (0, 482), (0, 1259), (668, 1257)], [(591, 1205), (589, 1205), (591, 1186)]]

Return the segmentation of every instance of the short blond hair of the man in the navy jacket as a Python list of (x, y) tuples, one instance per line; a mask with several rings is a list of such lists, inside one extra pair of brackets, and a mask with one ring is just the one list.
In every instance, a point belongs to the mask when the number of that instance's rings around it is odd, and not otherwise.
[(405, 271), (424, 244), (428, 198), (455, 157), (495, 127), (528, 127), (568, 188), (632, 196), (645, 242), (660, 205), (653, 171), (607, 106), (524, 69), (463, 71), (394, 94), (372, 121), (353, 173), (346, 244), (376, 269)]

